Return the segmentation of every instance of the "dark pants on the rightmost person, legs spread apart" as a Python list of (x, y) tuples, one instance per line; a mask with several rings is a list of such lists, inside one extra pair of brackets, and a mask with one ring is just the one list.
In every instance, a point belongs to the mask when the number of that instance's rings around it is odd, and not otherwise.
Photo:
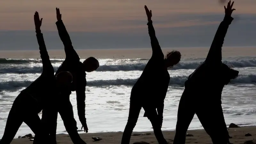
[(176, 134), (173, 144), (185, 144), (188, 126), (196, 114), (213, 144), (228, 144), (228, 130), (220, 100), (211, 95), (196, 96), (196, 92), (184, 90), (178, 108)]

